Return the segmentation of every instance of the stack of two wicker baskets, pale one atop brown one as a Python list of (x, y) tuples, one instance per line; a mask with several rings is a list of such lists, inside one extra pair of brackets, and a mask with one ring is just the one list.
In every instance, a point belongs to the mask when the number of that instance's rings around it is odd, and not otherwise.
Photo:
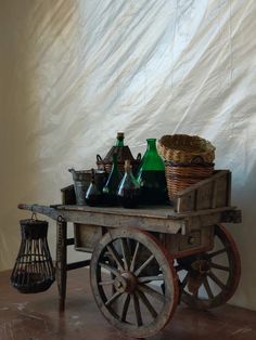
[(208, 178), (214, 171), (215, 146), (197, 135), (163, 135), (157, 149), (165, 160), (170, 201), (179, 191)]

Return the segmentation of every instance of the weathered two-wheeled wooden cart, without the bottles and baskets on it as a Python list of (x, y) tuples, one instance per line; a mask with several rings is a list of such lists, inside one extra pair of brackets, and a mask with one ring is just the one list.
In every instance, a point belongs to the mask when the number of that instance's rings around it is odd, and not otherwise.
[[(20, 205), (56, 221), (56, 278), (64, 310), (66, 273), (90, 264), (95, 302), (116, 328), (144, 338), (161, 330), (182, 301), (210, 309), (228, 301), (240, 278), (240, 257), (221, 222), (241, 222), (230, 205), (230, 171), (180, 192), (175, 206), (141, 209), (76, 206), (74, 188), (57, 206)], [(67, 223), (75, 237), (67, 238)], [(66, 247), (91, 252), (67, 264)]]

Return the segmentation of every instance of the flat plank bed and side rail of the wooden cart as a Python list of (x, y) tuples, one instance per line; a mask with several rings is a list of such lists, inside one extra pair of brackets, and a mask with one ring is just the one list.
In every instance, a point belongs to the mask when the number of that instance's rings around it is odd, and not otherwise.
[[(223, 212), (238, 211), (234, 207), (220, 207), (185, 213), (175, 213), (171, 209), (146, 210), (138, 213), (137, 209), (90, 208), (80, 206), (59, 206), (50, 208), (38, 205), (20, 205), (21, 209), (46, 214), (53, 220), (59, 217), (65, 222), (100, 225), (104, 227), (137, 226), (141, 230), (167, 234), (185, 234), (191, 225), (196, 227), (221, 222)], [(157, 212), (157, 213), (156, 213)]]

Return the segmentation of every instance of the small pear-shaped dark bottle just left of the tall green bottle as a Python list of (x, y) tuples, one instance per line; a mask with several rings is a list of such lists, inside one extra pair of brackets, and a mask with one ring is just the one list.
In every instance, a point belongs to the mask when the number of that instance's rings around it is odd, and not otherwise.
[(128, 159), (125, 161), (125, 174), (118, 187), (117, 198), (124, 208), (136, 208), (140, 200), (140, 184), (132, 174)]

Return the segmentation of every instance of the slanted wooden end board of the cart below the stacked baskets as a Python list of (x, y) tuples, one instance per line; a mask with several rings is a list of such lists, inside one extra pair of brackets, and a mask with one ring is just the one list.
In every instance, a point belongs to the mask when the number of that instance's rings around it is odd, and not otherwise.
[(174, 201), (175, 211), (189, 212), (230, 207), (230, 196), (231, 172), (217, 170), (210, 178), (180, 191)]

